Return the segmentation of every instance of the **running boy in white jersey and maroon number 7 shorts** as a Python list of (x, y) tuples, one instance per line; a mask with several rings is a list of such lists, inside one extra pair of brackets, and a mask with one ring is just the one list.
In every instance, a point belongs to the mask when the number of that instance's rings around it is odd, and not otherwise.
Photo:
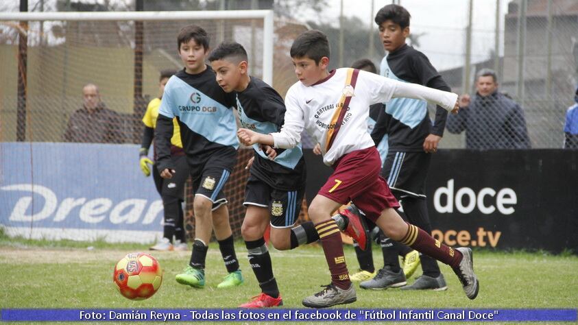
[(365, 217), (374, 221), (389, 238), (450, 265), (459, 276), (466, 296), (476, 298), (479, 286), (472, 251), (469, 248), (454, 250), (401, 219), (395, 210), (399, 207), (397, 200), (379, 176), (381, 159), (367, 132), (371, 104), (386, 102), (392, 97), (409, 97), (457, 112), (457, 95), (356, 69), (328, 71), (329, 43), (327, 36), (317, 30), (296, 38), (291, 46), (291, 60), (299, 82), (287, 91), (287, 111), (281, 131), (259, 134), (241, 128), (237, 135), (245, 145), (261, 143), (291, 148), (298, 145), (305, 128), (320, 143), (324, 163), (335, 169), (309, 206), (309, 217), (322, 242), (331, 284), (305, 298), (304, 306), (323, 308), (357, 300), (339, 229), (330, 215), (349, 201), (363, 210)]

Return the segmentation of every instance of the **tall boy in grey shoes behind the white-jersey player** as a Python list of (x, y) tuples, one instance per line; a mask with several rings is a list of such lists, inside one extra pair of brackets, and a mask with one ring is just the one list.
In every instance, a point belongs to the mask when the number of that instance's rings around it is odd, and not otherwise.
[[(409, 36), (410, 18), (409, 12), (401, 5), (385, 5), (377, 12), (375, 23), (378, 25), (383, 47), (388, 52), (381, 61), (381, 75), (440, 91), (450, 91), (450, 87), (428, 58), (405, 43)], [(444, 108), (437, 106), (432, 125), (426, 101), (396, 98), (385, 105), (385, 110), (372, 132), (375, 143), (379, 143), (386, 133), (389, 142), (381, 176), (387, 179), (387, 184), (400, 201), (409, 222), (429, 234), (431, 222), (427, 210), (425, 182), (432, 154), (437, 152), (437, 145), (444, 135), (447, 115)], [(407, 277), (399, 265), (398, 254), (409, 248), (389, 239), (387, 244), (383, 250), (383, 269), (379, 270), (375, 278), (361, 282), (363, 289), (447, 289), (446, 280), (439, 271), (437, 262), (426, 254), (420, 255), (423, 274), (412, 285), (403, 287), (407, 283)]]

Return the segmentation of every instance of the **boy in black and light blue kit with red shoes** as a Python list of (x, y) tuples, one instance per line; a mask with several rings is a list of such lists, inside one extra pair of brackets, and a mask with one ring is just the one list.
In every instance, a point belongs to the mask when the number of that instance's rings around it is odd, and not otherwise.
[[(227, 93), (235, 93), (243, 128), (260, 133), (278, 132), (285, 120), (282, 97), (263, 80), (248, 73), (247, 52), (239, 43), (221, 43), (208, 57), (217, 82)], [(245, 240), (251, 268), (261, 287), (254, 300), (242, 308), (281, 306), (282, 298), (273, 275), (271, 256), (263, 234), (271, 224), (271, 242), (278, 250), (289, 250), (319, 240), (313, 222), (293, 228), (299, 217), (305, 192), (306, 170), (301, 145), (289, 149), (253, 145), (250, 176), (245, 186), (247, 207), (241, 234)], [(346, 233), (365, 245), (363, 219), (335, 219)], [(345, 226), (346, 225), (346, 226)]]

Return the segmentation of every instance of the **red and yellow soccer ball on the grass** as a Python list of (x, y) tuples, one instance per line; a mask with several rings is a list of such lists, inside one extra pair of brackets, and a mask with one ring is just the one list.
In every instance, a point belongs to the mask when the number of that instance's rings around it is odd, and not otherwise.
[(132, 300), (150, 298), (160, 287), (162, 269), (153, 256), (126, 254), (117, 265), (112, 280), (121, 295)]

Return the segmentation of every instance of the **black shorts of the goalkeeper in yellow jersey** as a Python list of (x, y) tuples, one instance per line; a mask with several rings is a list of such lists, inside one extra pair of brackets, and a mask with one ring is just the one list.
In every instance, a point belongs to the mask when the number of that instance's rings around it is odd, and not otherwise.
[(189, 164), (186, 163), (186, 157), (171, 156), (173, 166), (175, 167), (175, 174), (172, 178), (162, 178), (158, 169), (152, 167), (152, 177), (156, 186), (156, 191), (160, 197), (177, 197), (178, 200), (183, 201), (184, 197), (184, 183), (189, 178)]

